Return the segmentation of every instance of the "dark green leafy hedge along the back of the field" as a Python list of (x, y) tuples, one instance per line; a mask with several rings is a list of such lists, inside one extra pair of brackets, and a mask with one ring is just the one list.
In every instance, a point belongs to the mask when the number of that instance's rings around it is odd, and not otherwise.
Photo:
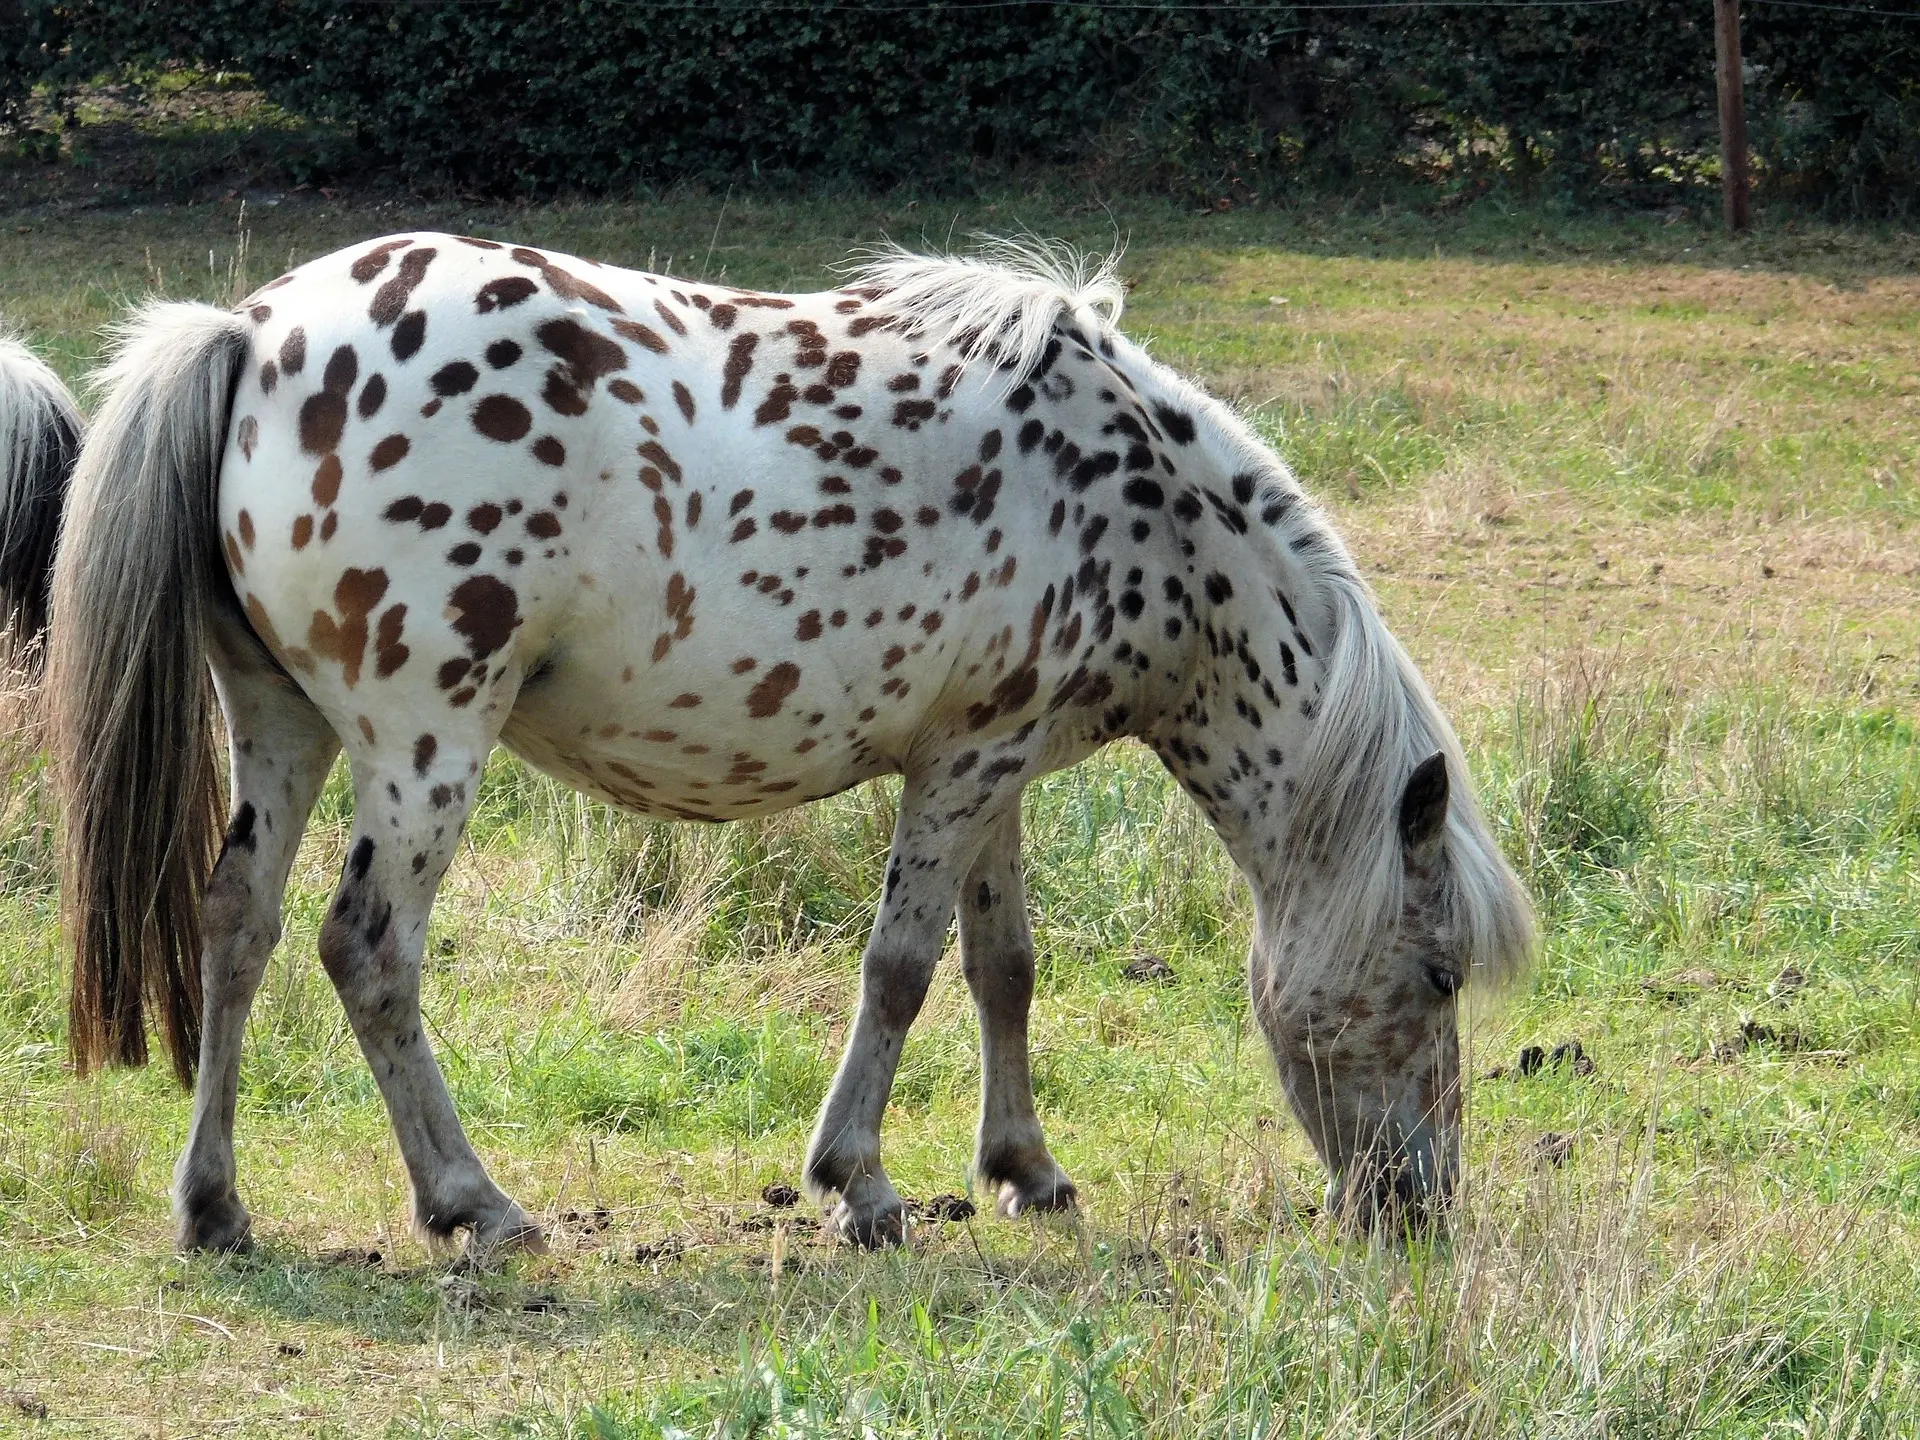
[[(1914, 10), (1749, 4), (1768, 188), (1912, 204)], [(340, 136), (336, 167), (490, 194), (1102, 163), (1194, 194), (1421, 177), (1590, 196), (1697, 182), (1716, 154), (1711, 0), (0, 0), (0, 121), (17, 129), (35, 84), (154, 63), (250, 73)]]

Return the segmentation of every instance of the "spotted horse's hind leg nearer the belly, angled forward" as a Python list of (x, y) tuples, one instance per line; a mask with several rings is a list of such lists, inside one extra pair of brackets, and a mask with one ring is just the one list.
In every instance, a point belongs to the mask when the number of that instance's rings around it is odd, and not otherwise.
[(420, 954), (440, 877), (453, 860), (490, 735), (353, 737), (353, 839), (321, 925), (326, 966), (372, 1068), (413, 1185), (413, 1229), (432, 1246), (467, 1231), (468, 1258), (495, 1246), (543, 1248), (540, 1227), (493, 1185), (461, 1129), (420, 1025)]

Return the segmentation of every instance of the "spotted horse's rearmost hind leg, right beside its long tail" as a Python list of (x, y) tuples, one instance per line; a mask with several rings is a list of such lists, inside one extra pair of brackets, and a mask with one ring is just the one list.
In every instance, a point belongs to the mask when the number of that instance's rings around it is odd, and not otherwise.
[(313, 703), (228, 622), (213, 674), (227, 710), (232, 820), (207, 881), (200, 956), (200, 1077), (186, 1148), (173, 1169), (182, 1250), (244, 1250), (250, 1219), (234, 1187), (240, 1043), (267, 956), (280, 939), (280, 895), (340, 741)]

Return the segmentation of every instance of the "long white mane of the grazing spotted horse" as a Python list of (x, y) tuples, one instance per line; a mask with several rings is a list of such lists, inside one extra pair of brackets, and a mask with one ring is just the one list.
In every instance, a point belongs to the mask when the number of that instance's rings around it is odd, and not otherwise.
[[(1114, 328), (1125, 292), (1116, 267), (1052, 242), (989, 240), (977, 255), (914, 255), (897, 246), (872, 252), (852, 282), (883, 292), (908, 334), (950, 344), (968, 361), (991, 357), (1018, 384), (1044, 353), (1062, 317), (1092, 330), (1110, 363), (1142, 394), (1190, 411), (1202, 440), (1225, 461), (1215, 476), (1258, 476), (1250, 509), (1279, 507), (1256, 528), (1311, 582), (1325, 666), (1306, 755), (1288, 770), (1294, 803), (1273, 847), (1263, 889), (1267, 916), (1290, 964), (1267, 983), (1300, 995), (1315, 977), (1365, 964), (1400, 925), (1405, 864), (1400, 797), (1413, 768), (1442, 751), (1452, 806), (1446, 826), (1448, 881), (1442, 904), (1457, 927), (1473, 979), (1501, 981), (1532, 956), (1526, 895), (1500, 854), (1475, 797), (1459, 737), (1440, 712), (1413, 660), (1386, 630), (1373, 591), (1325, 511), (1225, 403), (1152, 361)], [(1252, 540), (1252, 538), (1250, 538)], [(1256, 563), (1248, 549), (1240, 574)], [(1233, 561), (1229, 561), (1233, 563)], [(1240, 574), (1235, 578), (1238, 580)], [(1258, 593), (1271, 593), (1275, 576)], [(1279, 601), (1273, 601), (1275, 611)]]

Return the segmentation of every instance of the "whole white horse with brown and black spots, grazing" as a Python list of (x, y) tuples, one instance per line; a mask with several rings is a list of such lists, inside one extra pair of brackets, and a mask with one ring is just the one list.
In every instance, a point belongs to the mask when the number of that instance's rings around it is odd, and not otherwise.
[(1075, 1202), (1029, 1081), (1020, 795), (1123, 737), (1252, 887), (1254, 1016), (1332, 1204), (1369, 1223), (1450, 1192), (1455, 996), (1523, 960), (1526, 902), (1325, 515), (1119, 305), (1112, 267), (1058, 252), (889, 252), (776, 296), (401, 234), (232, 311), (138, 311), (73, 480), (50, 712), (73, 1056), (144, 1060), (154, 1008), (198, 1069), (180, 1246), (250, 1236), (242, 1029), (340, 749), (321, 962), (430, 1240), (540, 1244), (420, 1023), (495, 743), (674, 820), (902, 776), (804, 1162), (851, 1240), (902, 1238), (879, 1123), (954, 914), (975, 1175), (1008, 1213)]

